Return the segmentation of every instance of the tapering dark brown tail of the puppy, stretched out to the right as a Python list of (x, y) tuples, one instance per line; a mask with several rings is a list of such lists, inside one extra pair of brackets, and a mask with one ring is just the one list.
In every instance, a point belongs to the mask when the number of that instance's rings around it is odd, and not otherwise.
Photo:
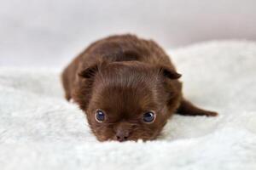
[(177, 108), (177, 114), (185, 116), (218, 116), (217, 112), (202, 110), (186, 99), (182, 99), (181, 104)]

